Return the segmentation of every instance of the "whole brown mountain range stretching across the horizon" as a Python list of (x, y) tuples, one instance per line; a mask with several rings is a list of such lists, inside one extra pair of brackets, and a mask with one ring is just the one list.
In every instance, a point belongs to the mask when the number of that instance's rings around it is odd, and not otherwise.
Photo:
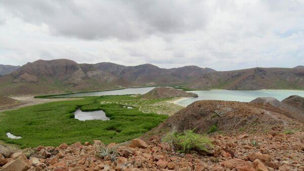
[(55, 59), (28, 62), (13, 70), (0, 76), (0, 95), (165, 85), (190, 89), (304, 89), (304, 66), (218, 72), (198, 66), (162, 69), (152, 64), (124, 66), (110, 62), (88, 64)]

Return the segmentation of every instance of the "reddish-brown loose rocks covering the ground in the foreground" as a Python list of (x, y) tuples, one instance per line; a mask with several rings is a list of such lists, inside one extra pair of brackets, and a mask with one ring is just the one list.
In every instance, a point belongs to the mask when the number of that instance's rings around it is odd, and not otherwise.
[(29, 159), (21, 152), (10, 158), (0, 155), (0, 170), (304, 170), (303, 131), (283, 133), (273, 127), (267, 133), (214, 134), (209, 138), (214, 147), (208, 154), (177, 153), (160, 139), (152, 138), (148, 143), (135, 139), (118, 146), (114, 159), (96, 155), (100, 141), (94, 141), (93, 145), (87, 142), (61, 144), (57, 148), (40, 146)]

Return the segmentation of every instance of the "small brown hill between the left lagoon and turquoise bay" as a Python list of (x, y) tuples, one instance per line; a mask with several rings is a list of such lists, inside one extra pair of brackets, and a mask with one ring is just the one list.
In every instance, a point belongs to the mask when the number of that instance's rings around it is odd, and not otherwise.
[(185, 92), (172, 87), (156, 87), (142, 95), (143, 98), (169, 98), (169, 97), (198, 97), (196, 93)]

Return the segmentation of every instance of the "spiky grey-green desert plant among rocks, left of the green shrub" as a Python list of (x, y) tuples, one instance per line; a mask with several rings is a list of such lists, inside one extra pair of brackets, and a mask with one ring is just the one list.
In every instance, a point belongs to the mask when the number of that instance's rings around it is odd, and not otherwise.
[(104, 144), (97, 146), (95, 149), (96, 156), (101, 157), (106, 160), (111, 160), (112, 162), (116, 161), (116, 159), (118, 157), (118, 152), (117, 152), (118, 147), (119, 147), (119, 145), (116, 145), (114, 147), (108, 147), (108, 146), (105, 146)]

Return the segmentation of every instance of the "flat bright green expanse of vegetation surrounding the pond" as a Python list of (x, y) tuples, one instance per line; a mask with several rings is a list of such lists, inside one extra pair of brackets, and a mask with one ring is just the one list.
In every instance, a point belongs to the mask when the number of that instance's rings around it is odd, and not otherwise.
[[(140, 99), (129, 95), (85, 97), (7, 111), (0, 113), (0, 140), (17, 144), (20, 148), (93, 140), (101, 140), (105, 144), (125, 142), (166, 120), (168, 115), (157, 113), (166, 113), (163, 103), (168, 100)], [(135, 108), (127, 109), (125, 105)], [(103, 110), (110, 120), (79, 121), (71, 118), (71, 113), (78, 108), (82, 111)], [(174, 109), (179, 110), (178, 107)], [(7, 132), (22, 136), (22, 139), (9, 139)]]

